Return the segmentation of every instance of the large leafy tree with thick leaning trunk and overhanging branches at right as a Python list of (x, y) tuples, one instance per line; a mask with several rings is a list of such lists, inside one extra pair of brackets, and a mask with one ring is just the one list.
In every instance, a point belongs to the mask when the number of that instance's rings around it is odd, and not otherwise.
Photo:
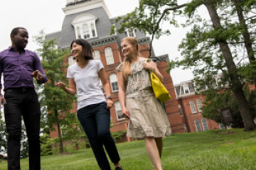
[[(221, 2), (223, 1), (193, 0), (187, 4), (178, 5), (175, 0), (140, 0), (139, 7), (134, 11), (127, 13), (124, 18), (117, 18), (116, 22), (120, 22), (120, 28), (117, 31), (122, 33), (125, 28), (138, 28), (144, 33), (151, 34), (153, 40), (161, 35), (170, 34), (170, 30), (160, 27), (161, 22), (168, 21), (178, 26), (174, 18), (176, 15), (188, 18), (186, 23), (181, 24), (184, 27), (191, 27), (191, 31), (179, 45), (183, 58), (171, 61), (167, 71), (174, 67), (193, 69), (198, 90), (208, 86), (206, 91), (218, 91), (228, 86), (238, 101), (245, 131), (255, 130), (256, 126), (242, 91), (245, 75), (241, 72), (242, 66), (234, 62), (234, 60), (240, 60), (240, 56), (236, 49), (231, 50), (229, 46), (230, 42), (240, 40), (241, 33), (230, 28), (230, 24), (226, 25), (226, 21), (221, 20), (218, 13), (218, 3)], [(197, 14), (197, 9), (201, 6), (207, 8), (210, 21)], [(114, 33), (114, 26), (111, 29), (111, 33)], [(222, 76), (216, 79), (220, 72)], [(212, 87), (216, 81), (218, 89)]]

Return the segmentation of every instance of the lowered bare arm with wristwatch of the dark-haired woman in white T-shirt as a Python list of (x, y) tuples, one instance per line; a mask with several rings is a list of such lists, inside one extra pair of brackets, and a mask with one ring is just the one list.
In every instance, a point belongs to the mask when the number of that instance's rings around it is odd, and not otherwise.
[[(106, 77), (104, 68), (100, 69), (99, 77), (100, 77), (100, 81), (102, 81), (102, 86), (104, 88), (106, 96), (110, 96), (111, 94), (110, 84), (107, 83), (107, 77)], [(114, 106), (114, 103), (111, 98), (107, 98), (106, 102), (107, 102), (107, 109), (110, 109)]]

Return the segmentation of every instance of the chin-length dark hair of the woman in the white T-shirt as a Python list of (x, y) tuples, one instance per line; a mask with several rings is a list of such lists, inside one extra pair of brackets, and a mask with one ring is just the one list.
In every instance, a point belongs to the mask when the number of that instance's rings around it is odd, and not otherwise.
[(84, 39), (73, 40), (73, 42), (71, 42), (71, 45), (70, 45), (71, 48), (73, 43), (82, 45), (82, 55), (85, 57), (85, 60), (93, 60), (92, 47), (90, 46), (90, 43), (87, 42), (87, 40), (84, 40)]

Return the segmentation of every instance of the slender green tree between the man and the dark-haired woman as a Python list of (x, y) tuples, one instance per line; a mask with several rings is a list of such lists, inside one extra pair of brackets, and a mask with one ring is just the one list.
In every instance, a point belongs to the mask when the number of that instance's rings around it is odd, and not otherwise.
[[(60, 127), (69, 125), (68, 120), (70, 109), (73, 108), (75, 96), (66, 94), (65, 91), (55, 86), (55, 81), (63, 81), (68, 84), (66, 79), (67, 64), (63, 64), (63, 57), (68, 56), (70, 51), (60, 50), (55, 39), (46, 41), (46, 35), (43, 30), (39, 35), (33, 37), (34, 41), (40, 46), (37, 52), (42, 58), (41, 63), (46, 71), (48, 82), (43, 85), (36, 85), (38, 97), (41, 103), (42, 118), (47, 118), (47, 126), (50, 130), (55, 130), (53, 125), (58, 127), (58, 137), (60, 138), (60, 153), (63, 152), (63, 142)], [(74, 114), (74, 113), (73, 113)], [(73, 116), (74, 117), (74, 116)], [(45, 122), (45, 121), (43, 121)], [(46, 125), (46, 123), (44, 123)]]

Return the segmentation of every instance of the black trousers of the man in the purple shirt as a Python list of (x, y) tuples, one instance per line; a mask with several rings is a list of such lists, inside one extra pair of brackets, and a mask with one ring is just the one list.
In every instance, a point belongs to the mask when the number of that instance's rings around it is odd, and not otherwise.
[(34, 89), (6, 89), (4, 115), (8, 137), (8, 169), (19, 170), (21, 148), (21, 116), (26, 126), (29, 147), (29, 169), (39, 170), (40, 166), (40, 103)]

